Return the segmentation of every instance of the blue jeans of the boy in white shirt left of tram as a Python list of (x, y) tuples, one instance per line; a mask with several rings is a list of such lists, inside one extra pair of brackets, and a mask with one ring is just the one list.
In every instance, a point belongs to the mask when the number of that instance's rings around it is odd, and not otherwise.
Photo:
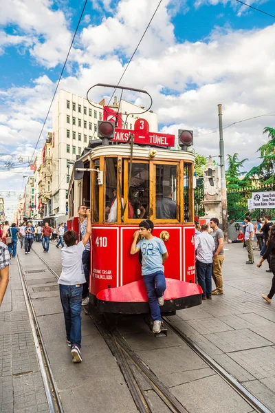
[(80, 284), (79, 287), (59, 284), (61, 304), (65, 318), (66, 337), (68, 341), (71, 341), (71, 347), (76, 344), (78, 348), (81, 348), (82, 289), (82, 284)]

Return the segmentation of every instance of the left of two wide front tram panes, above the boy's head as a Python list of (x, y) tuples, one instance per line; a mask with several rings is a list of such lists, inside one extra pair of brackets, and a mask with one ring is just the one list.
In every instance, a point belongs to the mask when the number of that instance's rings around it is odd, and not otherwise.
[(142, 220), (143, 218), (149, 218), (148, 163), (133, 162), (131, 178), (130, 164), (128, 164), (128, 176), (130, 179), (128, 198), (128, 219)]

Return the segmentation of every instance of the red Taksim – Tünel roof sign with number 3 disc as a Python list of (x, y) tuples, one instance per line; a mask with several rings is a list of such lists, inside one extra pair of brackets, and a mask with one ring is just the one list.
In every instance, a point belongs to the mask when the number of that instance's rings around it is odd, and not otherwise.
[(146, 119), (137, 119), (134, 129), (115, 128), (115, 137), (111, 140), (115, 142), (129, 142), (130, 134), (134, 135), (134, 142), (142, 145), (157, 145), (163, 147), (175, 146), (175, 135), (150, 132)]

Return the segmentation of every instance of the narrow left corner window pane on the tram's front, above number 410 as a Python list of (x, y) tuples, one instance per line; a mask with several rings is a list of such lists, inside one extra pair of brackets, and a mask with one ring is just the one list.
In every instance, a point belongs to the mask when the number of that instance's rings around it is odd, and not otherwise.
[(118, 158), (105, 159), (105, 221), (118, 221), (118, 199), (117, 199), (117, 167)]

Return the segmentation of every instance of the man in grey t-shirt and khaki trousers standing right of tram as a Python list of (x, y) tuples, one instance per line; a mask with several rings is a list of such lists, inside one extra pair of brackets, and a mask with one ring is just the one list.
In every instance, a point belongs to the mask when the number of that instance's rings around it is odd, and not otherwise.
[(224, 261), (224, 236), (223, 231), (219, 229), (219, 220), (218, 218), (210, 219), (210, 228), (212, 229), (212, 237), (214, 238), (214, 255), (213, 255), (213, 267), (212, 267), (212, 278), (216, 288), (212, 290), (212, 295), (221, 295), (223, 294), (223, 276), (221, 273), (221, 267)]

